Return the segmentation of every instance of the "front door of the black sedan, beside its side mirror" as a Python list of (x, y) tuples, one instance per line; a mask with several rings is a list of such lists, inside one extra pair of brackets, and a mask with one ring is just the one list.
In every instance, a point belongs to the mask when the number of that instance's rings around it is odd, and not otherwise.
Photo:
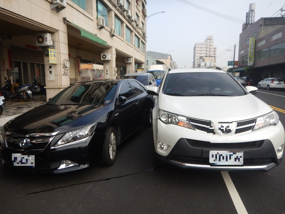
[[(122, 100), (124, 98), (126, 100)], [(129, 136), (137, 127), (138, 103), (129, 81), (121, 83), (117, 98), (116, 121), (121, 129), (122, 140)]]

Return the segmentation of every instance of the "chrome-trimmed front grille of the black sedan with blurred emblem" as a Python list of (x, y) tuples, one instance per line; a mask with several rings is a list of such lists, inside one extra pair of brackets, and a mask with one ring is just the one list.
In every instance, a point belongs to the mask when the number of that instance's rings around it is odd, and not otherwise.
[(33, 134), (6, 134), (7, 147), (17, 151), (43, 150), (54, 136), (34, 136)]

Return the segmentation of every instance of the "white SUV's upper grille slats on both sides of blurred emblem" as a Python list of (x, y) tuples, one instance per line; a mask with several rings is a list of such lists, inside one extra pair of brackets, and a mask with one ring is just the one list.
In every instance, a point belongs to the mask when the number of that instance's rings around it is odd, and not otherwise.
[[(196, 118), (188, 117), (189, 122), (193, 125), (196, 130), (201, 130), (207, 133), (216, 134), (213, 124), (210, 120), (201, 120)], [(233, 122), (235, 127), (235, 134), (243, 133), (246, 131), (250, 131), (254, 128), (256, 119), (249, 119), (243, 121)]]

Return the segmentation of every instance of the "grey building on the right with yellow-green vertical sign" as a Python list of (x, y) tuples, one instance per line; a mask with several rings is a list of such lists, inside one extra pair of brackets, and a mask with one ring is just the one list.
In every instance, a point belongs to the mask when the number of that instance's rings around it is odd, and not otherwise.
[(254, 76), (257, 84), (267, 77), (285, 79), (285, 22), (284, 17), (260, 18), (243, 24), (239, 38), (238, 67), (240, 76)]

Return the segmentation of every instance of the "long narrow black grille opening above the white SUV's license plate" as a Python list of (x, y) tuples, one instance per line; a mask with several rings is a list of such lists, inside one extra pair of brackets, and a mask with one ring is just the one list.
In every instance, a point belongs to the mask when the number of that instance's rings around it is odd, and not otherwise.
[(191, 147), (195, 148), (204, 148), (204, 149), (225, 149), (225, 150), (232, 150), (232, 149), (257, 149), (260, 148), (263, 144), (263, 140), (261, 141), (250, 141), (250, 142), (243, 142), (243, 143), (211, 143), (208, 141), (198, 141), (192, 139), (186, 139)]

